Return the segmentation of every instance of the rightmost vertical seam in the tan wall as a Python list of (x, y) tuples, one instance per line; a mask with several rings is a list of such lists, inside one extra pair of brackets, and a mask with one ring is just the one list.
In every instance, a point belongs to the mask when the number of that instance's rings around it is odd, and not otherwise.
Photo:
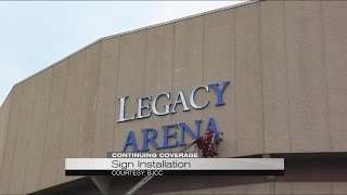
[(322, 6), (322, 1), (320, 1), (320, 21), (321, 21), (321, 30), (322, 30), (322, 52), (323, 52), (323, 80), (325, 84), (325, 98), (326, 98), (326, 115), (327, 115), (327, 133), (329, 133), (329, 143), (330, 143), (330, 150), (333, 151), (333, 140), (332, 140), (332, 129), (331, 129), (331, 119), (330, 119), (330, 95), (329, 95), (329, 84), (327, 84), (327, 78), (326, 78), (326, 63), (325, 63), (325, 34), (324, 34), (324, 21), (323, 21), (323, 6)]

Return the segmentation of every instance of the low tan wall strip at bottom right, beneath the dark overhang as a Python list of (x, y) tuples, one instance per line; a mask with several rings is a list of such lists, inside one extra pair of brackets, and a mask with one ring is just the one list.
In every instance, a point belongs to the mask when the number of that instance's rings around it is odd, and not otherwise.
[(347, 182), (267, 182), (162, 194), (346, 194)]

